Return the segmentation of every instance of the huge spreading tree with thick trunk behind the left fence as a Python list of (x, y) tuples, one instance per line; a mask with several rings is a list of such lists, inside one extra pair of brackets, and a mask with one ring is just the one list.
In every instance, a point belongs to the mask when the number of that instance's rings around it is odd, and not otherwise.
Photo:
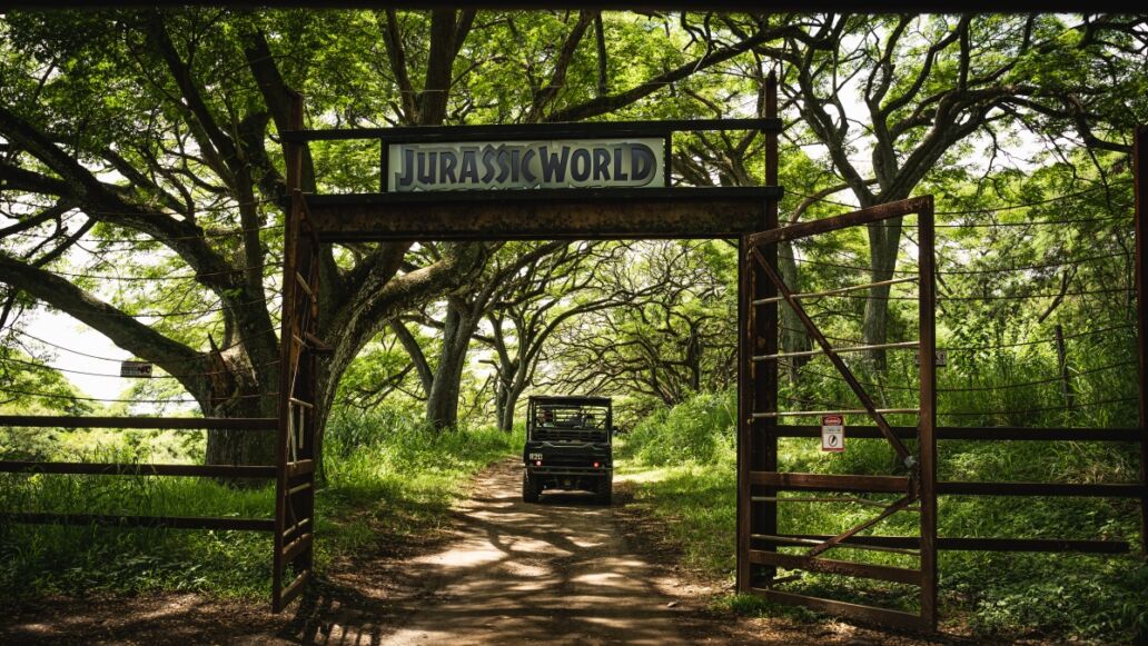
[[(277, 265), (281, 244), (285, 182), (274, 135), (287, 127), (292, 91), (307, 93), (315, 126), (583, 119), (633, 108), (777, 33), (685, 40), (673, 20), (450, 10), (8, 14), (0, 33), (5, 215), (14, 226), (47, 225), (54, 209), (67, 209), (68, 221), (99, 241), (84, 273), (180, 280), (107, 294), (53, 273), (68, 255), (36, 266), (11, 239), (0, 251), (0, 275), (9, 289), (176, 375), (204, 414), (274, 415), (278, 296), (263, 270)], [(653, 38), (651, 25), (665, 26), (665, 39)], [(362, 149), (313, 145), (303, 189), (363, 190), (370, 159)], [(324, 164), (331, 172), (317, 172)], [(62, 240), (78, 231), (26, 233)], [(139, 257), (117, 246), (125, 240), (152, 251), (153, 264), (132, 267)], [(413, 264), (409, 250), (323, 250), (320, 333), (334, 353), (320, 364), (320, 411), (386, 321), (481, 267), (482, 249), (473, 244), (447, 246), (426, 265)], [(146, 325), (156, 319), (149, 313), (164, 316)], [(266, 462), (270, 453), (265, 437), (212, 431), (207, 459)]]

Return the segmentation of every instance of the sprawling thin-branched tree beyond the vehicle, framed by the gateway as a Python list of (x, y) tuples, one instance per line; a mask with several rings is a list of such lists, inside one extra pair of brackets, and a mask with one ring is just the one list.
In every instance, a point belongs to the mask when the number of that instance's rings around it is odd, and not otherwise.
[(643, 242), (627, 260), (618, 280), (642, 298), (571, 319), (545, 351), (552, 376), (540, 386), (673, 406), (732, 383), (734, 250), (720, 242)]

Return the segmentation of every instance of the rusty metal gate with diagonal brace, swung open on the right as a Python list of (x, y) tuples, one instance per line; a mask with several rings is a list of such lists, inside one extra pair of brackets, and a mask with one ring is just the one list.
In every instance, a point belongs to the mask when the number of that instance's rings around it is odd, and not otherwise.
[[(918, 262), (915, 278), (901, 278), (839, 289), (794, 294), (782, 280), (777, 268), (777, 244), (792, 242), (847, 227), (877, 225), (891, 218), (917, 216)], [(775, 225), (774, 223), (769, 223)], [(936, 378), (934, 364), (920, 364), (920, 408), (881, 408), (854, 376), (843, 355), (867, 350), (916, 349), (921, 357), (933, 357), (933, 203), (931, 196), (882, 204), (844, 216), (769, 228), (743, 239), (742, 244), (742, 371), (738, 426), (738, 590), (753, 592), (771, 601), (802, 605), (848, 617), (876, 621), (901, 628), (933, 630), (937, 623), (937, 496), (936, 496)], [(835, 347), (821, 332), (802, 301), (838, 296), (871, 287), (916, 282), (918, 286), (920, 337), (917, 341), (877, 345)], [(805, 332), (817, 349), (800, 352), (779, 352), (778, 305), (792, 308)], [(778, 361), (799, 357), (824, 355), (840, 378), (855, 395), (860, 407), (839, 411), (792, 411), (778, 408)], [(783, 427), (779, 418), (816, 417), (822, 414), (863, 415), (895, 451), (900, 469), (887, 475), (829, 475), (784, 473), (777, 465), (777, 438)], [(902, 442), (902, 435), (886, 421), (889, 414), (916, 414), (916, 451)], [(812, 435), (817, 427), (788, 427), (792, 434)], [(783, 497), (786, 491), (820, 492), (822, 497)], [(897, 499), (864, 522), (836, 536), (813, 537), (783, 535), (777, 527), (777, 506), (789, 503), (841, 503), (858, 499), (825, 497), (830, 492), (895, 493)], [(869, 504), (874, 501), (866, 500)], [(913, 505), (916, 504), (916, 507)], [(889, 516), (899, 513), (920, 514), (920, 536), (915, 550), (889, 547), (859, 542), (855, 537)], [(792, 554), (779, 547), (801, 547), (804, 553)], [(828, 559), (823, 554), (833, 548), (893, 551), (920, 559), (917, 569)], [(920, 586), (920, 614), (862, 606), (786, 592), (777, 586), (796, 576), (778, 577), (777, 569), (815, 571)]]

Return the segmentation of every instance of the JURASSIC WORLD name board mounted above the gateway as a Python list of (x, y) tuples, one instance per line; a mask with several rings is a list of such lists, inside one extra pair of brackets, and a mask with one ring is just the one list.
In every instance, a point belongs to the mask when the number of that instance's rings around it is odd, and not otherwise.
[(386, 146), (387, 192), (666, 186), (660, 138)]

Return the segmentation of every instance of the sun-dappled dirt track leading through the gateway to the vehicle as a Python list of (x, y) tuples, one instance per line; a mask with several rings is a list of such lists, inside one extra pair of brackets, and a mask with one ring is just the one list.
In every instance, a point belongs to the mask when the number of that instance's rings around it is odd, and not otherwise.
[(456, 539), (410, 563), (435, 591), (383, 643), (684, 644), (677, 604), (650, 582), (612, 509), (581, 493), (527, 505), (520, 473), (489, 472)]

